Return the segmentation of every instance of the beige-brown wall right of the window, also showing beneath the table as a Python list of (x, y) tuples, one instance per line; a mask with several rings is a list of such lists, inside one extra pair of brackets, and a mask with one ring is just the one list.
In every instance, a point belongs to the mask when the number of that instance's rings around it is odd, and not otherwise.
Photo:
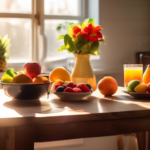
[[(123, 85), (123, 64), (135, 63), (136, 52), (150, 51), (150, 0), (99, 2), (99, 20), (106, 44), (100, 46), (101, 59), (97, 64), (97, 68), (103, 68), (105, 71), (95, 72), (97, 81), (103, 76), (111, 75), (117, 80), (118, 85)], [(135, 143), (130, 138), (126, 137), (126, 142), (124, 141), (125, 149), (135, 150)], [(76, 146), (51, 147), (51, 150), (76, 149), (117, 150), (116, 136), (86, 138), (83, 143)]]

